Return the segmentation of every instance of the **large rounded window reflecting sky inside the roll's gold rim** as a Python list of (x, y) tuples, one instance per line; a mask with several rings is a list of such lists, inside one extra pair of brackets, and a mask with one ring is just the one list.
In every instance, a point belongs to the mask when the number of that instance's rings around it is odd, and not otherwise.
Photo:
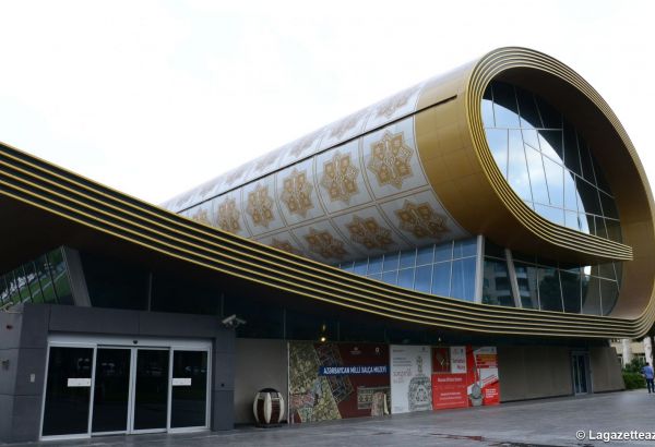
[(492, 82), (483, 121), (498, 167), (527, 206), (555, 224), (621, 240), (609, 185), (565, 117), (531, 92)]

